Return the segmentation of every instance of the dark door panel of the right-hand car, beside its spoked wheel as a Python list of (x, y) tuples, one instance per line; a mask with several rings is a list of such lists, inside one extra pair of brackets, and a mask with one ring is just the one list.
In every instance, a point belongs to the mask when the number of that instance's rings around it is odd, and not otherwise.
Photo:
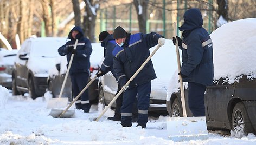
[(233, 98), (235, 83), (228, 84), (221, 78), (206, 90), (206, 114), (208, 119), (223, 127), (229, 127), (228, 103)]

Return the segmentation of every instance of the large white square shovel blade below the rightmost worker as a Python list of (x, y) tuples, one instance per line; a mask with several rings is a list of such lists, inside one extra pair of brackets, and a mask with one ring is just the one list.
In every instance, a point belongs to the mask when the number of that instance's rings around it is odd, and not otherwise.
[(207, 139), (206, 117), (167, 118), (167, 132), (169, 138), (173, 141)]

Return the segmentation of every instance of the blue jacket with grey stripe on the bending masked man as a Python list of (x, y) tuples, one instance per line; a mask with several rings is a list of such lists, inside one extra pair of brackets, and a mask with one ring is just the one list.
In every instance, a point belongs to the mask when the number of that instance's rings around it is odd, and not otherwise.
[[(139, 67), (149, 57), (149, 48), (158, 44), (158, 39), (163, 37), (156, 32), (149, 34), (127, 34), (123, 47), (116, 45), (113, 50), (114, 70), (116, 70), (118, 81), (121, 86), (135, 74)], [(129, 87), (134, 87), (156, 78), (153, 63), (150, 60), (140, 73), (130, 82)]]

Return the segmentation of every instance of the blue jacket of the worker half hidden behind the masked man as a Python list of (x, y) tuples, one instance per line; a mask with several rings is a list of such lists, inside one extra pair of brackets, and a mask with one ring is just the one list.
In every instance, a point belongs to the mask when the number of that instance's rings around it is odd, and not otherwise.
[(117, 80), (116, 71), (114, 71), (114, 67), (113, 67), (112, 52), (114, 50), (114, 47), (116, 47), (116, 41), (113, 38), (113, 34), (108, 35), (103, 40), (103, 42), (101, 42), (101, 47), (104, 47), (104, 61), (101, 64), (100, 71), (103, 72), (104, 74), (106, 74), (108, 71), (111, 71), (111, 73)]

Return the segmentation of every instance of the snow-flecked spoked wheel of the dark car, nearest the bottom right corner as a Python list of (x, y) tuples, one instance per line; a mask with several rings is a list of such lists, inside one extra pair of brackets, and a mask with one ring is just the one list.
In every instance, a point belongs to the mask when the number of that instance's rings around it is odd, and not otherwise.
[(233, 109), (231, 127), (235, 137), (242, 137), (253, 132), (252, 123), (242, 102), (237, 103)]

